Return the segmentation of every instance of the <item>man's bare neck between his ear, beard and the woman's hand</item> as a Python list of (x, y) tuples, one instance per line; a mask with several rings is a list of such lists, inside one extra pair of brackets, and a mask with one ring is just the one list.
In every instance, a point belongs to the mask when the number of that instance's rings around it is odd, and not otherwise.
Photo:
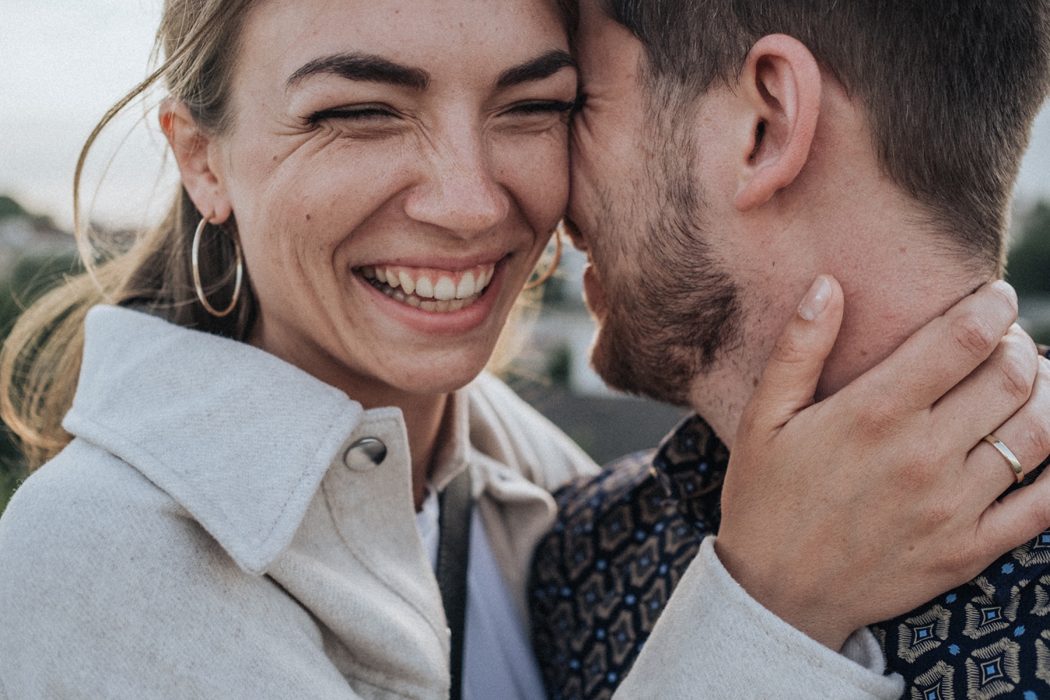
[[(728, 99), (714, 90), (701, 111), (717, 114), (723, 109), (718, 101)], [(719, 128), (718, 121), (712, 120), (710, 128)], [(712, 134), (701, 135), (699, 143), (716, 142)], [(700, 167), (716, 168), (723, 155), (718, 147), (700, 150)], [(842, 328), (825, 363), (818, 401), (888, 357), (994, 275), (959, 252), (958, 243), (883, 173), (861, 109), (826, 77), (812, 146), (798, 175), (758, 207), (739, 211), (728, 200), (712, 205), (713, 235), (723, 237), (722, 250), (749, 313), (743, 342), (726, 348), (710, 372), (693, 380), (690, 403), (730, 447), (774, 341), (817, 275), (834, 276), (845, 295)]]

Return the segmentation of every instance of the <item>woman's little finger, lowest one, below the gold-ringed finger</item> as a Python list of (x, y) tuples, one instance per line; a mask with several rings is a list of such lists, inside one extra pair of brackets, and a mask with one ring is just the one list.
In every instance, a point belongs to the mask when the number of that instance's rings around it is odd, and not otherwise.
[(978, 524), (976, 547), (993, 560), (1050, 528), (1050, 470), (992, 503)]

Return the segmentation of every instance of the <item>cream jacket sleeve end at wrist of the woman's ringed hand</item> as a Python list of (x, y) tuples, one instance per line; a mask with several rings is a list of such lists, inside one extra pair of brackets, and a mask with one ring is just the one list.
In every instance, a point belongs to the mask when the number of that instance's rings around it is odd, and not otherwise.
[(613, 700), (896, 700), (870, 632), (836, 654), (762, 608), (733, 580), (708, 537)]

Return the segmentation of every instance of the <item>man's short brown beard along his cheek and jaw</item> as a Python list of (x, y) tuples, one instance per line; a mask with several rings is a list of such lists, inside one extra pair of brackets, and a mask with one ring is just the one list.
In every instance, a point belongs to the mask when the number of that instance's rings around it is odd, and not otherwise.
[(660, 148), (634, 196), (598, 193), (591, 257), (608, 309), (591, 364), (612, 388), (688, 405), (693, 379), (741, 345), (742, 309), (705, 239), (694, 145), (688, 134), (651, 137)]

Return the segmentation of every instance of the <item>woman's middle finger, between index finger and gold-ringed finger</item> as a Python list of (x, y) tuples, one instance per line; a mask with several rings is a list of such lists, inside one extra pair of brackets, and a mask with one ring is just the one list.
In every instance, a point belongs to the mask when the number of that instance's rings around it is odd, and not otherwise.
[(1025, 405), (1038, 368), (1035, 343), (1013, 324), (991, 356), (933, 404), (937, 434), (972, 449)]

